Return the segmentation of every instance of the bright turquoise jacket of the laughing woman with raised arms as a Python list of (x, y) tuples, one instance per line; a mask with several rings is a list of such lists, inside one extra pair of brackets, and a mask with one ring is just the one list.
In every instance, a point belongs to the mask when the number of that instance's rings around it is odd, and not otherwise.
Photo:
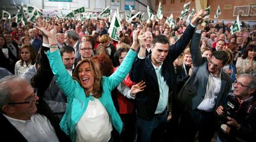
[[(85, 91), (80, 86), (79, 82), (73, 80), (66, 71), (61, 60), (59, 49), (54, 52), (46, 52), (51, 70), (56, 77), (57, 83), (61, 90), (67, 96), (67, 111), (61, 120), (61, 129), (70, 136), (72, 141), (75, 141), (75, 125), (79, 122), (82, 115), (85, 113), (90, 97), (85, 96)], [(126, 77), (132, 68), (132, 63), (137, 55), (137, 52), (130, 50), (119, 68), (109, 77), (102, 77), (101, 85), (103, 93), (99, 101), (105, 107), (111, 119), (111, 123), (116, 128), (119, 134), (122, 131), (122, 120), (114, 107), (111, 98), (111, 90), (116, 88), (119, 83)]]

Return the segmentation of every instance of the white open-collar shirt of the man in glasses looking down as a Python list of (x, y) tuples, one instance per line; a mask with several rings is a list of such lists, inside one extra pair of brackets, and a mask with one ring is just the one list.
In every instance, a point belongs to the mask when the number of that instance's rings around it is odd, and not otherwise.
[[(221, 75), (221, 73), (220, 73), (220, 75)], [(209, 83), (209, 80), (208, 80), (208, 83)], [(202, 110), (202, 111), (207, 111), (207, 112), (213, 111), (215, 104), (216, 104), (216, 99), (218, 98), (218, 94), (220, 93), (221, 77), (213, 76), (213, 83), (215, 83), (215, 88), (213, 90), (213, 94), (211, 94), (210, 98), (208, 98), (209, 96), (207, 97), (207, 95), (205, 95), (205, 98), (199, 104), (197, 109)]]

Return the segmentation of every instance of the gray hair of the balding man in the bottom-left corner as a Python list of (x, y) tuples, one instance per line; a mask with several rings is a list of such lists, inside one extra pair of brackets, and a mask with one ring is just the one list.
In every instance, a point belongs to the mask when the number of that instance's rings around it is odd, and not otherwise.
[(11, 101), (12, 91), (15, 89), (13, 83), (25, 83), (26, 81), (23, 78), (18, 77), (17, 75), (9, 75), (0, 80), (0, 110), (6, 104)]

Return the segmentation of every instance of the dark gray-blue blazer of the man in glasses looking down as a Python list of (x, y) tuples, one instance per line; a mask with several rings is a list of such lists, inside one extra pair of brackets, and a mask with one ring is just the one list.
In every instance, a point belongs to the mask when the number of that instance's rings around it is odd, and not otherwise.
[[(202, 57), (200, 51), (200, 38), (201, 34), (194, 33), (190, 48), (193, 61), (193, 73), (178, 94), (179, 101), (188, 109), (192, 110), (197, 109), (200, 102), (203, 101), (209, 77), (207, 58)], [(220, 106), (224, 97), (226, 97), (229, 90), (231, 90), (231, 86), (232, 78), (227, 73), (221, 72), (221, 88), (215, 107)]]

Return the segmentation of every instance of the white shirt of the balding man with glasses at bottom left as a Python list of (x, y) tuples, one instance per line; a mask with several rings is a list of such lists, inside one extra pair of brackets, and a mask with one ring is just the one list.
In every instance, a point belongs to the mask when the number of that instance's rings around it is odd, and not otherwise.
[(13, 119), (4, 115), (9, 122), (24, 136), (27, 141), (59, 141), (51, 122), (46, 116), (34, 114), (30, 120)]

